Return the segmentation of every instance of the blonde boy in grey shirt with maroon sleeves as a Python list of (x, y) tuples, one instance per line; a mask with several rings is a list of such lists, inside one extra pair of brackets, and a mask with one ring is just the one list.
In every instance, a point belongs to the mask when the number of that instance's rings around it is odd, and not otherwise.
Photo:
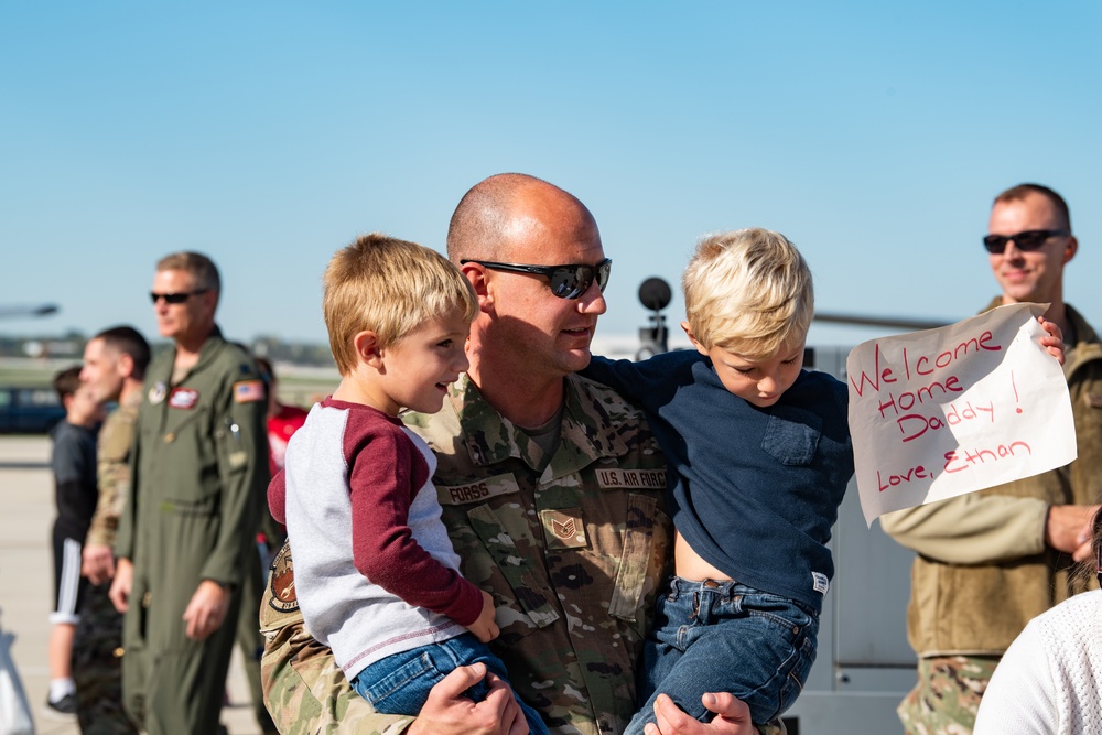
[[(341, 385), (291, 437), (269, 505), (287, 525), (306, 628), (377, 711), (417, 714), (458, 666), (507, 679), (485, 646), (498, 634), (493, 598), (460, 574), (440, 520), (436, 458), (398, 418), (443, 406), (467, 369), (478, 301), (444, 257), (382, 235), (337, 251), (324, 287)], [(519, 704), (529, 731), (547, 733)]]

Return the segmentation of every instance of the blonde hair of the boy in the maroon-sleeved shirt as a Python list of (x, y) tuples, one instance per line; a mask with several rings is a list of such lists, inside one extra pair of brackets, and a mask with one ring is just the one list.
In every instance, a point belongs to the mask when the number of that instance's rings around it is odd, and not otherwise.
[(360, 332), (375, 332), (386, 348), (452, 310), (468, 323), (478, 315), (474, 288), (446, 258), (379, 233), (337, 250), (322, 282), (329, 349), (341, 375), (356, 368), (353, 339)]

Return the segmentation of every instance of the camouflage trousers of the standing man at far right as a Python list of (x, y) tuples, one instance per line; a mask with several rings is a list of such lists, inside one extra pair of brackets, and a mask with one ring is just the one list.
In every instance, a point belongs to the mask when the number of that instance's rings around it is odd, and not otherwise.
[(998, 657), (947, 656), (918, 660), (918, 683), (896, 712), (907, 735), (971, 735), (980, 698)]

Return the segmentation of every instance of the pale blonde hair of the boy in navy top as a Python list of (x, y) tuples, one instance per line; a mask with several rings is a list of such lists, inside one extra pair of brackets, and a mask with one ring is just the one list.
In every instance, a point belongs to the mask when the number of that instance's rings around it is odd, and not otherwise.
[(705, 349), (767, 359), (811, 326), (811, 270), (780, 233), (749, 228), (704, 237), (681, 284), (685, 320)]

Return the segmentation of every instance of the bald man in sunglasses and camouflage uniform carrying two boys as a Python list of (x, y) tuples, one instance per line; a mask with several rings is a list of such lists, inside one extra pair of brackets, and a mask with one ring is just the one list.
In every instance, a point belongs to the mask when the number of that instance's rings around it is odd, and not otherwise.
[[(606, 309), (593, 280), (605, 262), (596, 223), (566, 192), (504, 174), (467, 193), (447, 244), (482, 309), (471, 369), (440, 413), (403, 419), (436, 454), (443, 521), (464, 576), (494, 595), (501, 635), (490, 647), (517, 693), (552, 733), (620, 733), (637, 709), (635, 668), (672, 526), (665, 460), (642, 414), (573, 375)], [(541, 274), (517, 263), (571, 266)], [(500, 684), (485, 702), (463, 696), (480, 678), (469, 667), (417, 717), (374, 713), (303, 629), (285, 548), (260, 616), (268, 705), (284, 735), (498, 733), (516, 716)], [(731, 718), (684, 722), (674, 706), (663, 733), (752, 732), (742, 703), (716, 706)]]

